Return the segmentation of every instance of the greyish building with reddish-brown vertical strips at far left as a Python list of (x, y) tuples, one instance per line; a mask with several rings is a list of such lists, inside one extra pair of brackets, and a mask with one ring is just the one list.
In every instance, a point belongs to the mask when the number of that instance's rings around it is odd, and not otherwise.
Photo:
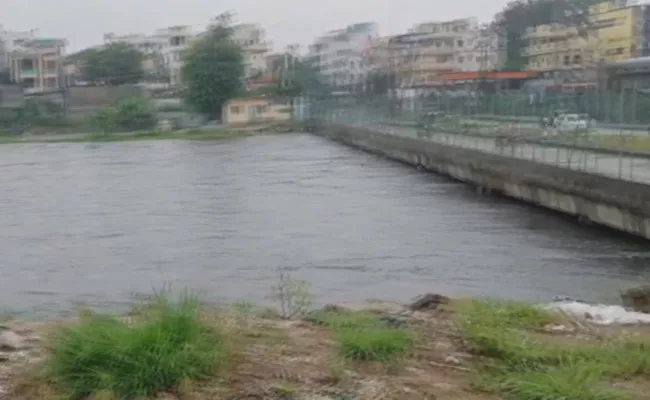
[(64, 39), (29, 39), (14, 47), (11, 79), (23, 85), (25, 92), (58, 90), (64, 84)]

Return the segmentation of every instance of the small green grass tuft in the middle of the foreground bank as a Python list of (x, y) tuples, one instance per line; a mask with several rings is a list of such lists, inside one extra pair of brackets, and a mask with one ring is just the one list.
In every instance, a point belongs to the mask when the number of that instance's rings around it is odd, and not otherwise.
[(394, 361), (413, 345), (408, 330), (388, 326), (375, 314), (319, 312), (311, 320), (333, 330), (339, 355), (348, 360)]

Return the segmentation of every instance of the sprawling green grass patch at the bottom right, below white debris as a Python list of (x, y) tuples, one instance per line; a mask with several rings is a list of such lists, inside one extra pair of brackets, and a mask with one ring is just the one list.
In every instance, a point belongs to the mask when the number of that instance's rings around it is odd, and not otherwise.
[(648, 341), (544, 341), (536, 332), (561, 317), (515, 302), (472, 301), (459, 312), (469, 350), (486, 357), (479, 377), (486, 390), (520, 400), (631, 399), (608, 384), (650, 376)]

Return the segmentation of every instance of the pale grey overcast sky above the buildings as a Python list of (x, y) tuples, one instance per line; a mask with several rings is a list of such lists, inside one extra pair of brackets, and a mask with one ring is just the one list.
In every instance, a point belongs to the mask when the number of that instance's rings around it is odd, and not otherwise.
[(328, 30), (375, 21), (382, 35), (414, 23), (476, 16), (491, 19), (506, 0), (1, 0), (0, 24), (63, 37), (69, 51), (102, 42), (107, 32), (148, 33), (170, 25), (205, 26), (210, 17), (236, 12), (237, 22), (262, 24), (281, 50), (305, 46)]

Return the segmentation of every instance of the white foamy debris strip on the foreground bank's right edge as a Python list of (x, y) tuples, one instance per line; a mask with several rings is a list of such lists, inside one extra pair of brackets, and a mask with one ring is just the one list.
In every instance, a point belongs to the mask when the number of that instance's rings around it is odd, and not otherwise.
[(588, 319), (600, 325), (650, 324), (650, 314), (627, 311), (621, 306), (588, 304), (581, 301), (556, 301), (545, 308), (561, 310), (568, 315)]

